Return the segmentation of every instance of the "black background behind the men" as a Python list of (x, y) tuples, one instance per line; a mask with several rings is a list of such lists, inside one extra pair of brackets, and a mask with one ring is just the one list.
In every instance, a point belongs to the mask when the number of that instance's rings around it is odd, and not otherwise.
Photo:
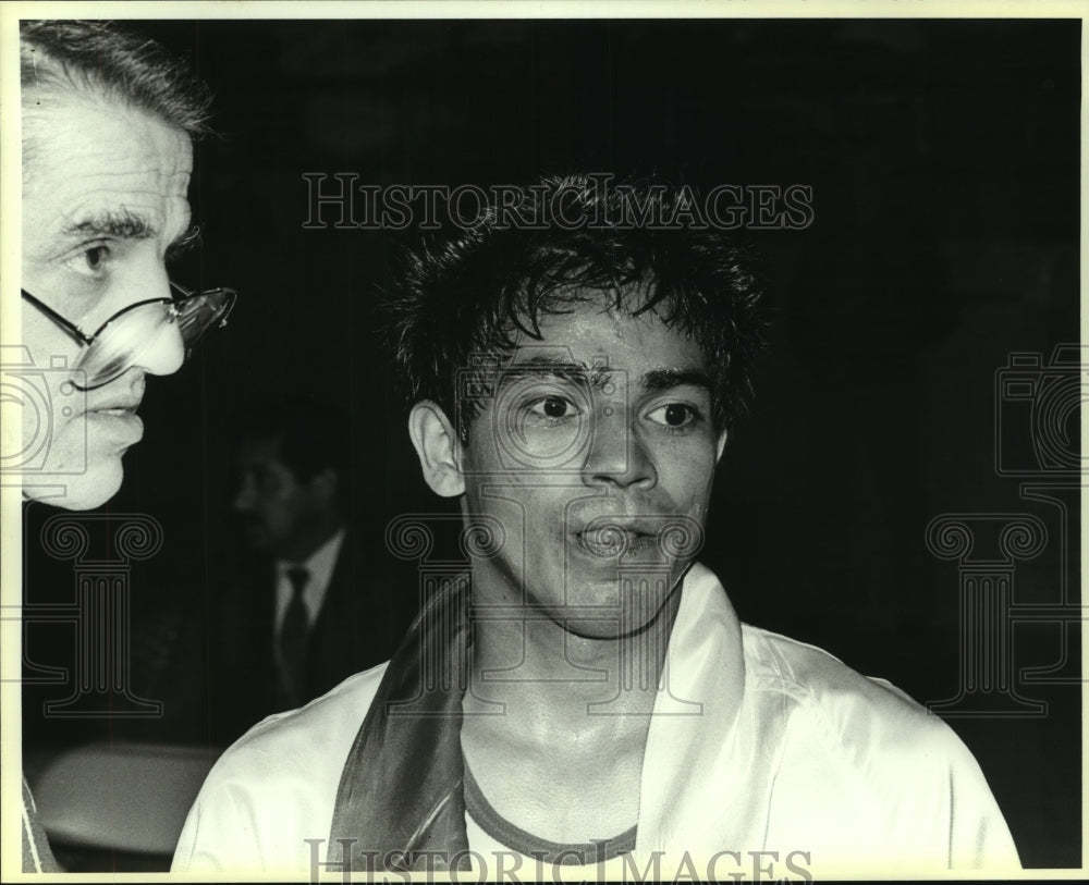
[[(744, 620), (922, 702), (958, 686), (957, 563), (928, 551), (931, 518), (1037, 515), (1049, 541), (1017, 564), (1014, 601), (1060, 602), (1064, 578), (1077, 601), (1076, 496), (1063, 554), (1057, 507), (1023, 497), (994, 450), (999, 433), (1032, 463), (1032, 403), (999, 408), (1010, 354), (1040, 353), (1047, 367), (1055, 345), (1078, 342), (1079, 22), (135, 26), (188, 57), (216, 93), (220, 136), (198, 147), (191, 190), (204, 247), (176, 279), (240, 292), (230, 325), (189, 366), (149, 379), (144, 441), (103, 508), (152, 514), (166, 537), (131, 579), (134, 679), (168, 705), (147, 734), (200, 740), (199, 722), (171, 718), (172, 693), (215, 674), (200, 666), (199, 630), (179, 656), (172, 625), (199, 625), (216, 582), (243, 567), (231, 555), (229, 443), (242, 406), (281, 392), (339, 398), (357, 453), (355, 516), (376, 533), (399, 514), (443, 506), (419, 478), (375, 333), (375, 286), (414, 232), (303, 230), (306, 172), (380, 185), (576, 169), (705, 188), (810, 185), (808, 229), (750, 235), (776, 331), (754, 414), (717, 479), (703, 561)], [(1077, 410), (1059, 426), (1079, 452)], [(1077, 482), (1076, 470), (1041, 476)], [(51, 513), (27, 508), (27, 539)], [(32, 604), (71, 599), (71, 575), (29, 544)], [(949, 722), (1026, 865), (1076, 866), (1080, 689), (1026, 684), (1019, 671), (1065, 654), (1056, 675), (1079, 674), (1077, 634), (1042, 620), (1013, 636), (1017, 690), (1045, 701), (1045, 714)], [(32, 623), (27, 653), (63, 663), (68, 637)], [(28, 748), (123, 732), (44, 718), (42, 700), (65, 692), (27, 687)]]

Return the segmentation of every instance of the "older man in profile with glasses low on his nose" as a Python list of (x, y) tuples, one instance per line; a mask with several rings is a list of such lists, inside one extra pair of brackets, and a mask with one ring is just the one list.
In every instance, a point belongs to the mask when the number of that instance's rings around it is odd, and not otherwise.
[[(146, 376), (176, 371), (234, 298), (167, 273), (171, 253), (195, 241), (186, 190), (208, 96), (155, 42), (108, 24), (25, 22), (20, 45), (17, 369), (46, 404), (23, 415), (21, 452), (36, 457), (23, 494), (87, 509), (121, 485), (121, 458), (143, 435)], [(52, 869), (23, 795), (24, 869)]]

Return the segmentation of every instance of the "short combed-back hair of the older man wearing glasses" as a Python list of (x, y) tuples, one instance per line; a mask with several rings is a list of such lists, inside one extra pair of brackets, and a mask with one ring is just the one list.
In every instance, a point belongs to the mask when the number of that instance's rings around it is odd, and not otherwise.
[(24, 112), (42, 94), (94, 91), (158, 116), (192, 138), (210, 132), (211, 96), (188, 65), (112, 22), (21, 22)]

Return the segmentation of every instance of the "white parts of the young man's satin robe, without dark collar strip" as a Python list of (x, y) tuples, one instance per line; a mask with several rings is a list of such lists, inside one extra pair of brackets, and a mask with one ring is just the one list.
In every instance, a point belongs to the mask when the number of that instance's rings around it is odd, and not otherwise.
[[(189, 812), (173, 872), (338, 873), (323, 865), (337, 790), (386, 666), (231, 747)], [(742, 625), (699, 565), (684, 579), (640, 789), (636, 849), (619, 859), (633, 877), (1019, 869), (979, 765), (949, 726), (820, 649)]]

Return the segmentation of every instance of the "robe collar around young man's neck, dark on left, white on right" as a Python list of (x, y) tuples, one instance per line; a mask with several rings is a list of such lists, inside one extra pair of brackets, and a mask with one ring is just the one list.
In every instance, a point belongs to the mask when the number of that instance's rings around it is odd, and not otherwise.
[[(744, 696), (741, 624), (722, 586), (697, 564), (682, 594), (647, 736), (637, 849), (685, 828), (685, 800), (697, 797), (684, 785), (736, 738)], [(461, 747), (470, 629), (461, 575), (431, 595), (390, 661), (337, 791), (329, 860), (345, 872), (470, 869)]]

